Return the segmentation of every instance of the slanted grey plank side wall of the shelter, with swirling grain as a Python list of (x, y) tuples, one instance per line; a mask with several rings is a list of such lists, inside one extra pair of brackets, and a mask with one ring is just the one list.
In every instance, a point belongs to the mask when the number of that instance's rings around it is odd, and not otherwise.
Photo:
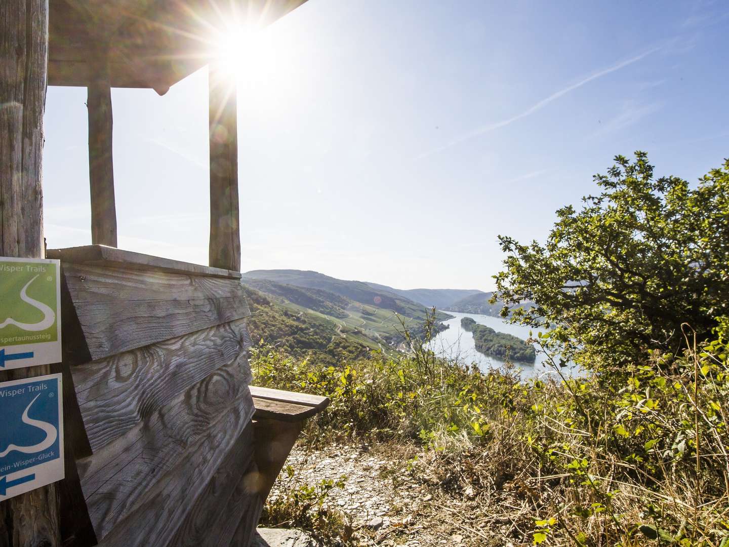
[(49, 256), (62, 260), (66, 435), (86, 505), (62, 513), (64, 529), (90, 521), (108, 547), (247, 546), (265, 485), (240, 279), (64, 255), (83, 253)]

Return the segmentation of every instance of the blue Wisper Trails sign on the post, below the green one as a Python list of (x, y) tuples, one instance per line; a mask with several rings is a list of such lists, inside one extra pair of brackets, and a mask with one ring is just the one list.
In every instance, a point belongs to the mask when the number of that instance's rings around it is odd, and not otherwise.
[(63, 478), (61, 374), (0, 384), (0, 502)]

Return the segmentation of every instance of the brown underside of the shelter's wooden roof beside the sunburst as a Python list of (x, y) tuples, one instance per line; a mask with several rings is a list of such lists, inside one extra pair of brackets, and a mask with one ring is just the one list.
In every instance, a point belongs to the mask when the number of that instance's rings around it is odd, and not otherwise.
[(306, 0), (50, 0), (48, 84), (85, 87), (109, 49), (114, 88), (162, 95), (210, 61), (231, 21), (265, 26)]

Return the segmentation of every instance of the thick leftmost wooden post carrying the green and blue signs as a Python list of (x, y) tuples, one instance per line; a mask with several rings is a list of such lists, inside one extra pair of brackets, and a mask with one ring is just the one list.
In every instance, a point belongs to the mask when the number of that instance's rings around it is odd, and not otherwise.
[[(48, 60), (48, 0), (0, 2), (0, 256), (42, 258), (41, 156)], [(0, 372), (39, 376), (48, 365)], [(0, 503), (0, 545), (61, 543), (56, 485)]]

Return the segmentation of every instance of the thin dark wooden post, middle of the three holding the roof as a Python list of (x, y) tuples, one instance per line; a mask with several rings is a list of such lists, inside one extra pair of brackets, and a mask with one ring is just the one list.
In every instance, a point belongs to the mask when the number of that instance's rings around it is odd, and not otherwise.
[(89, 67), (91, 80), (86, 105), (89, 111), (91, 243), (117, 247), (109, 48), (100, 46), (95, 55), (89, 59)]

